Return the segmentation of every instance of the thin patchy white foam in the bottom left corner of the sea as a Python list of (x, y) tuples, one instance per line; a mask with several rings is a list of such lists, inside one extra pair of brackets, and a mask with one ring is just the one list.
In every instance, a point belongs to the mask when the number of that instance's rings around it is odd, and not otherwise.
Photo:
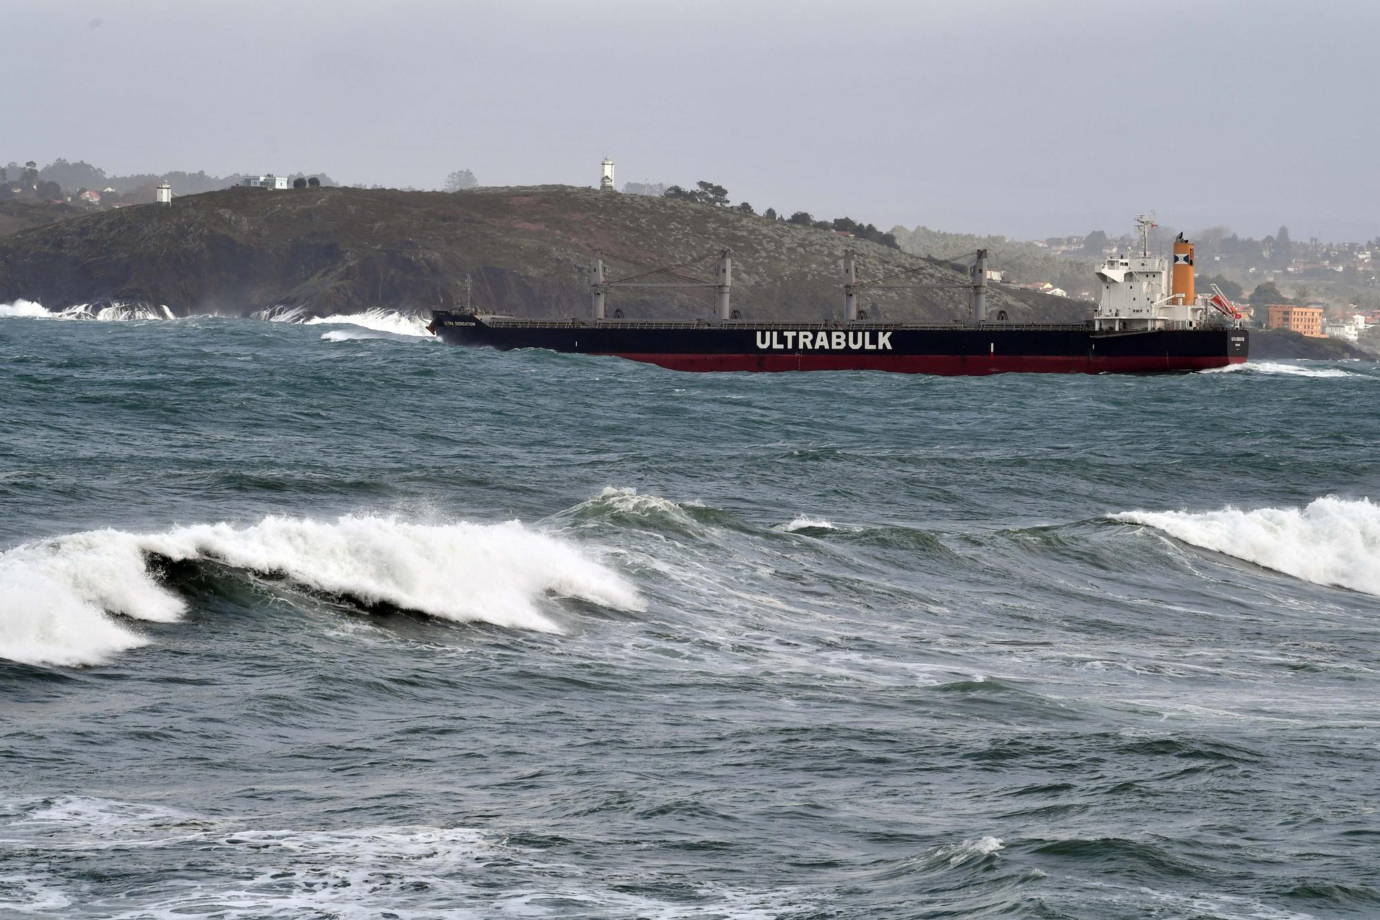
[[(548, 850), (529, 850), (491, 832), (466, 827), (382, 825), (370, 827), (246, 826), (235, 818), (207, 818), (159, 805), (68, 796), (39, 804), (0, 827), (0, 844), (29, 852), (150, 852), (167, 861), (195, 852), (219, 868), (218, 880), (168, 879), (144, 891), (105, 892), (59, 876), (48, 861), (19, 880), (14, 905), (29, 912), (83, 903), (112, 920), (172, 920), (217, 916), (264, 917), (437, 917), (582, 916), (736, 917), (769, 920), (800, 909), (795, 891), (696, 885), (700, 903), (660, 901), (620, 891), (603, 874), (560, 862)], [(65, 861), (63, 861), (65, 862)], [(15, 881), (15, 880), (11, 880)], [(59, 887), (68, 888), (63, 894)], [(558, 906), (559, 905), (559, 906)], [(47, 916), (47, 914), (44, 914)], [(63, 914), (66, 916), (66, 914)]]

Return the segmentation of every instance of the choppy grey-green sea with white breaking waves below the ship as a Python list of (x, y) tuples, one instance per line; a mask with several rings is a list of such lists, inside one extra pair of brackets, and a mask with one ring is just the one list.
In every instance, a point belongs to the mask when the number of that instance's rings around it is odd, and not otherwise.
[(1380, 916), (1377, 402), (0, 307), (0, 917)]

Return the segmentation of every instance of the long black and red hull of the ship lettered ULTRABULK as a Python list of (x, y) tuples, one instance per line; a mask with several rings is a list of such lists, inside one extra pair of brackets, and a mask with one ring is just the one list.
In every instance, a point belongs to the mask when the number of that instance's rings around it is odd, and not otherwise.
[(613, 355), (672, 370), (890, 370), (920, 374), (1155, 373), (1246, 361), (1243, 329), (1094, 332), (1092, 325), (530, 320), (436, 311), (453, 345)]

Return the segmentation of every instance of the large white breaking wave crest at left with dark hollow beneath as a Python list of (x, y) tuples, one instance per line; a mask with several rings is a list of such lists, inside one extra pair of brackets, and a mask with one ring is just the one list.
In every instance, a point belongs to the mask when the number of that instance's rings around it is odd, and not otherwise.
[(546, 594), (627, 611), (636, 588), (577, 547), (524, 528), (407, 524), (346, 515), (334, 522), (266, 517), (251, 526), (203, 524), (166, 533), (88, 530), (0, 554), (0, 658), (95, 664), (149, 640), (132, 620), (174, 622), (185, 601), (150, 559), (210, 559), (364, 604), (455, 622), (559, 633)]

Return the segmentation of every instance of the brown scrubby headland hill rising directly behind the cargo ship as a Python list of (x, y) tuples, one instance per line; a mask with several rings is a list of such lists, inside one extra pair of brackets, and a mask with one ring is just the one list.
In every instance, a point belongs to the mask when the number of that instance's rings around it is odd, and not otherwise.
[[(610, 280), (705, 257), (734, 258), (733, 304), (745, 318), (816, 319), (842, 312), (842, 260), (875, 278), (920, 264), (919, 283), (963, 283), (955, 267), (726, 207), (541, 185), (458, 193), (232, 188), (21, 231), (0, 239), (0, 303), (50, 308), (101, 298), (166, 304), (179, 314), (247, 314), (276, 305), (317, 314), (425, 311), (475, 303), (531, 316), (586, 315), (586, 267), (604, 253)], [(994, 289), (989, 311), (1070, 319), (1086, 305)], [(879, 319), (966, 315), (966, 290), (875, 291)], [(711, 291), (624, 290), (610, 309), (632, 316), (707, 316)]]

